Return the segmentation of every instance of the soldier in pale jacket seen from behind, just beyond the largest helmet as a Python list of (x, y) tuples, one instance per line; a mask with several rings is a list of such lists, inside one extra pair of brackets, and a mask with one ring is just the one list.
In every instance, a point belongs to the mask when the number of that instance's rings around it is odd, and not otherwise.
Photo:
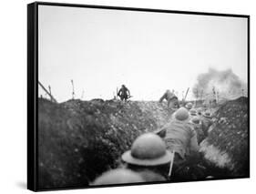
[(171, 180), (203, 179), (205, 168), (200, 165), (197, 134), (189, 123), (189, 112), (180, 107), (173, 120), (157, 134), (164, 138), (167, 148), (175, 151)]

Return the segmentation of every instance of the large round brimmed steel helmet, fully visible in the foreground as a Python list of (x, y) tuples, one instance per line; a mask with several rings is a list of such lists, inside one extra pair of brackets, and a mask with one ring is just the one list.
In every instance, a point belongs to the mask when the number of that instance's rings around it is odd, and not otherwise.
[(170, 162), (171, 154), (164, 141), (154, 133), (146, 133), (135, 139), (131, 149), (122, 155), (128, 164), (158, 166)]

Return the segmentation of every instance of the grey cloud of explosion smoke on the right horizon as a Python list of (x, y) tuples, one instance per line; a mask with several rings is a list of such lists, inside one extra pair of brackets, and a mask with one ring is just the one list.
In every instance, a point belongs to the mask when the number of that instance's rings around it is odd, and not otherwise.
[(198, 76), (197, 83), (192, 90), (194, 97), (198, 99), (213, 99), (216, 95), (219, 99), (247, 97), (246, 83), (241, 81), (231, 69), (218, 71), (209, 68), (207, 73)]

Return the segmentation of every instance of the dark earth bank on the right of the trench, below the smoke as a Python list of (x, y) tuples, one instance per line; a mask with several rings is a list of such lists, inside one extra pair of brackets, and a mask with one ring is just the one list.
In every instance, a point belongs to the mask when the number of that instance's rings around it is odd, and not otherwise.
[(247, 97), (228, 101), (214, 113), (215, 122), (200, 149), (212, 165), (213, 174), (219, 172), (216, 168), (226, 169), (226, 174), (216, 177), (249, 176), (248, 117)]

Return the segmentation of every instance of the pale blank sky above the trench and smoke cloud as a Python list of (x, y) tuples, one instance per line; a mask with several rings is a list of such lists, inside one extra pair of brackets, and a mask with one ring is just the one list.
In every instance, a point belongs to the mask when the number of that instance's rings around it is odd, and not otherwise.
[(39, 5), (38, 22), (39, 81), (58, 102), (72, 97), (71, 79), (84, 100), (122, 84), (134, 100), (180, 97), (209, 67), (247, 81), (246, 18)]

